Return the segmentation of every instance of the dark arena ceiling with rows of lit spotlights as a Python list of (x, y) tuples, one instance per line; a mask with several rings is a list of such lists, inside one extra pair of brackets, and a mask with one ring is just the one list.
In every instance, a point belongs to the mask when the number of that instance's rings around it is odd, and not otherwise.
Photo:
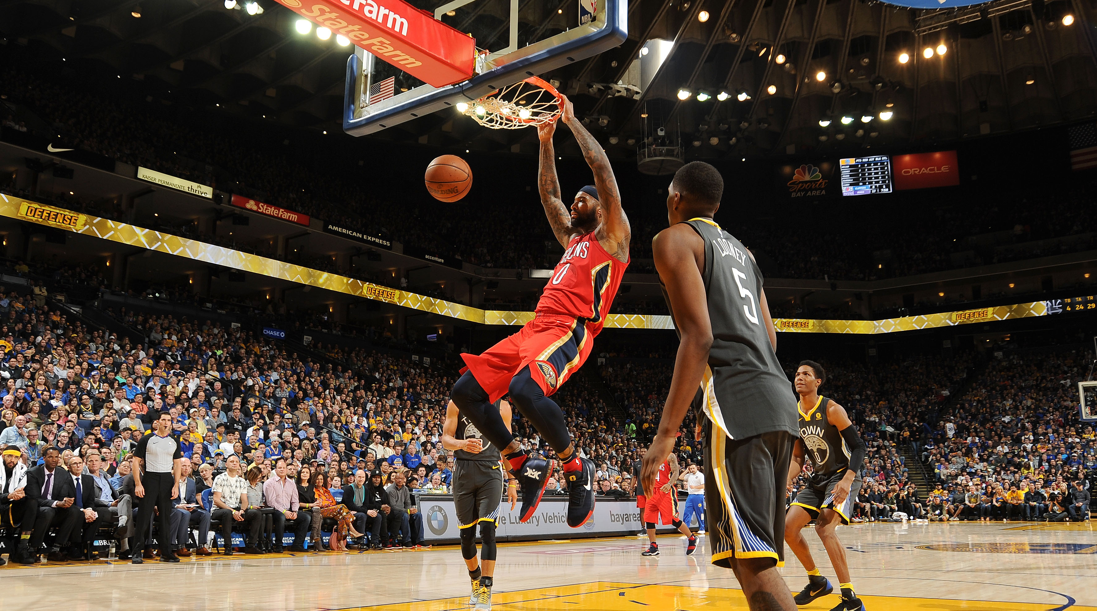
[[(483, 1), (478, 30), (499, 35), (506, 15), (496, 13), (509, 2)], [(521, 0), (520, 31), (567, 27), (576, 2)], [(351, 47), (302, 35), (292, 12), (258, 3), (262, 11), (250, 14), (225, 0), (8, 0), (0, 29), (9, 43), (143, 80), (177, 101), (339, 128)], [(546, 77), (620, 156), (634, 155), (656, 125), (680, 129), (691, 157), (918, 146), (1093, 116), (1092, 11), (1090, 0), (931, 11), (861, 0), (632, 0), (626, 43)], [(651, 84), (614, 87), (653, 38), (672, 50)], [(487, 46), (479, 37), (477, 45)], [(482, 150), (536, 146), (530, 129), (485, 129), (446, 112), (370, 137)]]

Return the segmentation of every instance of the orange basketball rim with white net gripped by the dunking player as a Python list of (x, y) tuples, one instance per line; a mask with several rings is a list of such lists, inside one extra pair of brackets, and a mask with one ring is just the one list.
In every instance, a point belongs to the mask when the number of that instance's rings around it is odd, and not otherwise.
[(461, 114), (493, 129), (518, 129), (555, 121), (564, 111), (559, 92), (538, 77), (530, 77), (514, 84), (465, 104), (457, 104)]

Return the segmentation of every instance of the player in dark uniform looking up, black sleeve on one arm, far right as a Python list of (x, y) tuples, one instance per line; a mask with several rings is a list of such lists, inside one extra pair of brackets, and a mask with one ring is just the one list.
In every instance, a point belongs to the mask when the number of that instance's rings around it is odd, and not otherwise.
[(815, 520), (815, 534), (819, 535), (830, 564), (838, 576), (841, 602), (832, 611), (864, 611), (849, 580), (846, 550), (835, 535), (839, 523), (849, 524), (857, 493), (861, 489), (861, 464), (867, 446), (857, 427), (849, 420), (846, 409), (818, 394), (826, 380), (826, 372), (815, 361), (802, 361), (796, 369), (796, 393), (800, 395), (800, 439), (792, 450), (789, 465), (789, 487), (804, 467), (804, 459), (812, 461), (812, 476), (807, 487), (796, 495), (785, 518), (784, 540), (807, 570), (807, 585), (796, 595), (796, 604), (807, 604), (834, 591), (830, 581), (823, 577), (812, 552), (800, 531)]

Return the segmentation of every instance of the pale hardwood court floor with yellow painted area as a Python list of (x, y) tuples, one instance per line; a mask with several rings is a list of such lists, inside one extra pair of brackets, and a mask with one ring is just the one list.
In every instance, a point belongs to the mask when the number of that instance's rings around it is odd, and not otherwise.
[[(1097, 524), (855, 524), (839, 529), (853, 582), (869, 611), (1097, 611)], [(814, 532), (823, 574), (835, 581)], [(680, 536), (505, 544), (494, 608), (519, 610), (747, 609), (730, 570)], [(782, 569), (799, 591), (794, 557)], [(0, 569), (0, 609), (63, 604), (66, 611), (442, 611), (467, 609), (468, 578), (456, 546), (419, 552), (64, 563)], [(801, 609), (828, 610), (836, 596)]]

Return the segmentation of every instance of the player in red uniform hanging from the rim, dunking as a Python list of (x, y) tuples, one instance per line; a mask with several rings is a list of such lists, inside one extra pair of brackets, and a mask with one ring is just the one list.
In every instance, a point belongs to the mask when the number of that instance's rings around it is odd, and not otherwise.
[(541, 203), (556, 239), (564, 246), (564, 256), (545, 284), (533, 320), (478, 357), (461, 355), (467, 367), (453, 385), (451, 398), (484, 439), (502, 449), (521, 488), (520, 520), (525, 522), (541, 502), (551, 465), (535, 451), (527, 455), (493, 406), (510, 393), (518, 410), (559, 459), (569, 493), (567, 524), (578, 528), (595, 510), (595, 465), (578, 456), (564, 412), (550, 397), (583, 366), (593, 349), (595, 336), (602, 329), (629, 265), (631, 229), (606, 151), (575, 117), (572, 102), (562, 97), (561, 104), (559, 121), (578, 140), (593, 170), (595, 184), (576, 193), (568, 212), (561, 201), (553, 157), (556, 124), (539, 125)]

